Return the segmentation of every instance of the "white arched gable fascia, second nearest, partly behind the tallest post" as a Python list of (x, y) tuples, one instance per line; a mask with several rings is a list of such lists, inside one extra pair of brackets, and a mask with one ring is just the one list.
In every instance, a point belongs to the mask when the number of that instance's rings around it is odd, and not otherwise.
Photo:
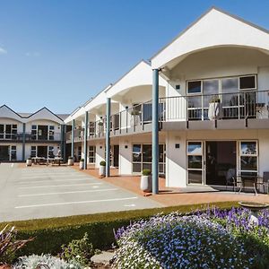
[[(161, 86), (166, 86), (166, 82), (161, 77), (159, 83)], [(113, 98), (113, 96), (117, 95), (121, 91), (145, 85), (152, 85), (152, 67), (144, 61), (141, 61), (114, 85), (112, 85), (112, 87), (107, 91), (107, 96)]]

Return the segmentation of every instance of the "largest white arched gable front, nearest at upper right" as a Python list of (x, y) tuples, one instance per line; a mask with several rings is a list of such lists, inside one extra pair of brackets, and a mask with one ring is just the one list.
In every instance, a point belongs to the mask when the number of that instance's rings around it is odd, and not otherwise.
[(269, 34), (266, 30), (212, 9), (159, 54), (153, 56), (152, 68), (161, 68), (172, 60), (195, 51), (224, 46), (269, 51)]

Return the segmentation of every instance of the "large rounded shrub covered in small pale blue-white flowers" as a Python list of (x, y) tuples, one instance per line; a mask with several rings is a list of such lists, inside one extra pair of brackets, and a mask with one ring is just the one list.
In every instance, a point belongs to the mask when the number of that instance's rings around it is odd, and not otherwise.
[(115, 268), (248, 268), (244, 243), (221, 224), (178, 213), (137, 221), (116, 234)]

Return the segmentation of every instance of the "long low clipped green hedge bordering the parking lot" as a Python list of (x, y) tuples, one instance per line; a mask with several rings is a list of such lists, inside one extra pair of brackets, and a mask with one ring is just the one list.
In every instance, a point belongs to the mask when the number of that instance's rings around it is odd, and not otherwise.
[[(96, 213), (61, 218), (40, 219), (31, 221), (11, 221), (0, 223), (14, 225), (18, 230), (18, 239), (35, 239), (23, 247), (19, 256), (30, 254), (59, 253), (63, 244), (72, 239), (81, 239), (88, 233), (93, 247), (106, 249), (115, 244), (113, 230), (126, 226), (130, 221), (148, 219), (157, 213), (190, 213), (196, 209), (204, 209), (208, 204), (178, 205), (163, 208), (143, 209), (117, 213)], [(213, 203), (211, 205), (229, 209), (238, 206), (237, 202)]]

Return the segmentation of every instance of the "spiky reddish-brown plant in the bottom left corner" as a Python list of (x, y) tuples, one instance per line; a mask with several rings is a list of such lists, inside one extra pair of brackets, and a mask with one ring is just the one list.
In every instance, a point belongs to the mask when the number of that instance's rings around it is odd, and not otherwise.
[(14, 226), (8, 230), (8, 225), (0, 231), (0, 264), (11, 264), (16, 251), (22, 248), (31, 239), (16, 240), (17, 231)]

